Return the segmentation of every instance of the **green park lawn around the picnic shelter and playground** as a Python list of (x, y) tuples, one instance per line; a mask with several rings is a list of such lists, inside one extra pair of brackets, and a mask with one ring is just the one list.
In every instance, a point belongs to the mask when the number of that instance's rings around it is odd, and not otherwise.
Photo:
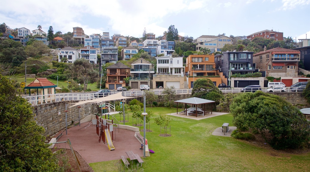
[[(309, 171), (310, 153), (283, 153), (232, 137), (213, 136), (212, 132), (224, 122), (232, 124), (231, 114), (199, 121), (169, 116), (172, 136), (160, 137), (160, 127), (154, 123), (154, 118), (160, 113), (175, 113), (176, 109), (147, 109), (154, 111), (150, 124), (152, 132), (147, 132), (146, 138), (149, 149), (155, 154), (142, 157), (144, 171)], [(132, 125), (131, 112), (126, 125)], [(90, 166), (96, 172), (118, 171), (118, 162), (120, 160), (97, 162)]]

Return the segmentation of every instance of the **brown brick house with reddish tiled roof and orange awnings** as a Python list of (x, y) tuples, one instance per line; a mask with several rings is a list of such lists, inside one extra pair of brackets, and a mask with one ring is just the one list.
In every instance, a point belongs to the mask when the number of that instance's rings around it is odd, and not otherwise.
[(253, 63), (259, 71), (266, 71), (266, 76), (274, 78), (298, 76), (300, 52), (286, 48), (272, 48), (253, 55)]

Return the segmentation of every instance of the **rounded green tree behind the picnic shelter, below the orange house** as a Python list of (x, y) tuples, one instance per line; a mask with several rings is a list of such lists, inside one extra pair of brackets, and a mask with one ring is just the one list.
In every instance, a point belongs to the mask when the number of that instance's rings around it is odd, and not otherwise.
[(223, 93), (209, 78), (201, 78), (194, 82), (192, 97), (213, 100), (216, 104), (224, 100)]

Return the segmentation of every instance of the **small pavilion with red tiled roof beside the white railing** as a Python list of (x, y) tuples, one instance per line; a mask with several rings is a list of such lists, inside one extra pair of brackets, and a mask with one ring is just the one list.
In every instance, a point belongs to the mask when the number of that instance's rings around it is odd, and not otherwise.
[[(24, 89), (37, 89), (37, 96), (39, 95), (39, 88), (41, 89), (40, 95), (49, 95), (56, 94), (56, 85), (49, 81), (47, 78), (36, 78), (33, 82), (27, 85)], [(52, 92), (52, 88), (54, 88), (54, 92)], [(43, 96), (44, 98), (44, 96)]]

